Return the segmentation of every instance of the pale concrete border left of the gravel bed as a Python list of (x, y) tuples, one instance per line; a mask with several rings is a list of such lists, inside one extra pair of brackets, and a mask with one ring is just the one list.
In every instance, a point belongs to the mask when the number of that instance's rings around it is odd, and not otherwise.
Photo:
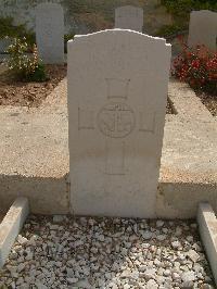
[(28, 200), (26, 198), (17, 198), (0, 224), (0, 268), (5, 263), (28, 214)]

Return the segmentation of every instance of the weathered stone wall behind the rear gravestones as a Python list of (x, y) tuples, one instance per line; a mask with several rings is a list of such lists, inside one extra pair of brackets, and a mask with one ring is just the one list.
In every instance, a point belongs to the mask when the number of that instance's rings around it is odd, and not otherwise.
[[(1, 0), (0, 16), (13, 16), (14, 24), (26, 23), (35, 30), (35, 8), (44, 0)], [(126, 4), (144, 11), (143, 32), (153, 35), (162, 25), (173, 23), (161, 0), (51, 0), (61, 3), (65, 15), (65, 33), (87, 34), (114, 27), (115, 8)]]

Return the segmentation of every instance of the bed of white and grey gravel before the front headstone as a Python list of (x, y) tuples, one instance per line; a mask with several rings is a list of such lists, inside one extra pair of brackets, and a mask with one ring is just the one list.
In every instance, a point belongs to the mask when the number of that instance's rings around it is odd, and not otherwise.
[(215, 286), (193, 221), (31, 215), (0, 272), (0, 288)]

